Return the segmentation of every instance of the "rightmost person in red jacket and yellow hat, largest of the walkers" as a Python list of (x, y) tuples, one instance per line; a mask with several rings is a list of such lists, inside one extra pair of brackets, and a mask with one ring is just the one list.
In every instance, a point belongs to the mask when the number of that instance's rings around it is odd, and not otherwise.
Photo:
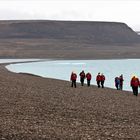
[(130, 81), (130, 86), (132, 87), (133, 94), (138, 96), (138, 87), (140, 86), (140, 81), (136, 76), (133, 76)]

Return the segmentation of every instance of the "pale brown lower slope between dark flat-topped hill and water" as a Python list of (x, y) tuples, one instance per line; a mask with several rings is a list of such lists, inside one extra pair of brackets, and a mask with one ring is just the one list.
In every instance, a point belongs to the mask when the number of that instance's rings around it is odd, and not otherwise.
[[(47, 46), (47, 47), (46, 47)], [(2, 39), (0, 58), (140, 58), (140, 45), (93, 45), (46, 39)]]

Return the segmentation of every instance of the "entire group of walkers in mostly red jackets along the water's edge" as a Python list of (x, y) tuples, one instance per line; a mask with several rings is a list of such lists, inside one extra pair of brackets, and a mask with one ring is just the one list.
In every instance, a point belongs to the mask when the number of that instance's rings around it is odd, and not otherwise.
[[(90, 72), (86, 73), (83, 71), (80, 72), (79, 74), (80, 76), (80, 82), (81, 82), (81, 86), (84, 86), (84, 81), (85, 79), (87, 79), (87, 86), (90, 86), (90, 81), (92, 78), (92, 75)], [(77, 80), (77, 74), (75, 72), (71, 73), (71, 77), (70, 80), (72, 81), (71, 87), (75, 87), (76, 88), (76, 80)], [(117, 90), (123, 90), (123, 75), (121, 74), (118, 77), (115, 77), (115, 87)], [(97, 82), (97, 86), (98, 88), (102, 87), (104, 88), (104, 82), (105, 82), (105, 76), (100, 73), (97, 74), (96, 76), (96, 82)], [(131, 81), (130, 81), (130, 86), (132, 87), (132, 91), (133, 94), (135, 96), (138, 96), (138, 87), (140, 87), (140, 81), (136, 76), (133, 76)]]

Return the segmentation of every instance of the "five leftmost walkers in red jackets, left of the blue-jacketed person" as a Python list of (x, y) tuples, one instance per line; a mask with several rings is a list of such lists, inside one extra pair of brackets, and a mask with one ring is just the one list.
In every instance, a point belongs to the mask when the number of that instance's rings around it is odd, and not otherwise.
[[(92, 78), (92, 75), (90, 72), (85, 74), (84, 70), (82, 70), (79, 76), (80, 76), (81, 86), (84, 85), (85, 79), (87, 79), (87, 86), (90, 86), (90, 81)], [(77, 74), (75, 72), (71, 73), (70, 80), (72, 81), (71, 87), (76, 88)], [(103, 74), (98, 73), (98, 75), (96, 76), (96, 81), (97, 81), (98, 88), (100, 87), (104, 88), (105, 76)]]

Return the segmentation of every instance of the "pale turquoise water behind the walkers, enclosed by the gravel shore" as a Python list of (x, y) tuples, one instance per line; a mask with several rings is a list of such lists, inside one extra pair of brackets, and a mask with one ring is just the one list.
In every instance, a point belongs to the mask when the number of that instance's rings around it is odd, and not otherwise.
[[(106, 76), (105, 86), (115, 88), (114, 78), (123, 74), (124, 90), (130, 90), (132, 75), (140, 77), (140, 59), (120, 60), (56, 60), (32, 63), (19, 63), (6, 66), (10, 71), (32, 73), (42, 77), (70, 81), (70, 74), (75, 71), (78, 75), (84, 70), (92, 74), (91, 83), (96, 85), (98, 72)], [(80, 81), (78, 76), (77, 81)]]

